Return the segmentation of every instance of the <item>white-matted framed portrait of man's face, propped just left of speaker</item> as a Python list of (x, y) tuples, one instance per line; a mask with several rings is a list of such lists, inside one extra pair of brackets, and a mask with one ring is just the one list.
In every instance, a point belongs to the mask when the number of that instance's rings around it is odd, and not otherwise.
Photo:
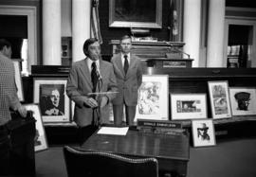
[(44, 122), (69, 122), (70, 100), (66, 79), (34, 79), (34, 103), (39, 103)]

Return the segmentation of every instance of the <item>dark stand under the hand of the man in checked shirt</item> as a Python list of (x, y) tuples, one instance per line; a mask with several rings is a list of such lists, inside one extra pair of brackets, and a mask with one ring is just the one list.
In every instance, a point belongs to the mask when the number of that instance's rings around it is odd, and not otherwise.
[(29, 112), (26, 118), (17, 114), (11, 114), (11, 118), (10, 175), (35, 176), (35, 119)]

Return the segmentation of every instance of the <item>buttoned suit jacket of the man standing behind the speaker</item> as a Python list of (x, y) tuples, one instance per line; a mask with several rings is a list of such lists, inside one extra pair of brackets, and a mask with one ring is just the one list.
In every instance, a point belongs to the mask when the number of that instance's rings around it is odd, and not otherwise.
[(142, 82), (142, 63), (137, 56), (131, 54), (129, 68), (125, 76), (121, 63), (121, 54), (113, 56), (111, 62), (114, 66), (119, 88), (117, 97), (112, 100), (113, 105), (120, 105), (125, 102), (128, 106), (136, 106), (137, 89)]

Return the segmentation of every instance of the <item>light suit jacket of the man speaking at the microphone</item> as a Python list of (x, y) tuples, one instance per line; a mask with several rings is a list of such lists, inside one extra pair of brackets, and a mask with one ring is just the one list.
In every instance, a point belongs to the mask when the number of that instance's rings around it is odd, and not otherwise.
[[(83, 105), (84, 97), (92, 93), (91, 73), (85, 60), (75, 62), (69, 73), (66, 84), (67, 96), (75, 102), (74, 120), (80, 126), (90, 125), (93, 120), (93, 109)], [(110, 62), (100, 61), (100, 73), (102, 78), (101, 90), (97, 86), (96, 92), (117, 92), (117, 81)], [(111, 101), (115, 94), (106, 95)], [(101, 120), (109, 119), (108, 105), (101, 109)]]

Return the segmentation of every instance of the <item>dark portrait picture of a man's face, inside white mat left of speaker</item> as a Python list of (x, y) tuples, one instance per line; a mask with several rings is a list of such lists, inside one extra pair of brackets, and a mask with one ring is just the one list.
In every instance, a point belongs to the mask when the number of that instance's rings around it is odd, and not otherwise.
[(40, 85), (42, 115), (64, 115), (64, 84)]

